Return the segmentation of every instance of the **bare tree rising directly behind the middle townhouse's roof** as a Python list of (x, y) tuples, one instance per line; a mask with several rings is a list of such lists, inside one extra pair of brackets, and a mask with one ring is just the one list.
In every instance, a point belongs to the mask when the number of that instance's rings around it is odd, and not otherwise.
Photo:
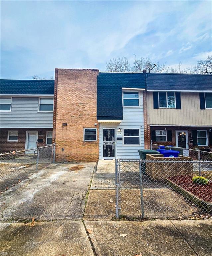
[(128, 58), (115, 58), (106, 63), (106, 71), (115, 71), (115, 72), (129, 72), (130, 63)]

